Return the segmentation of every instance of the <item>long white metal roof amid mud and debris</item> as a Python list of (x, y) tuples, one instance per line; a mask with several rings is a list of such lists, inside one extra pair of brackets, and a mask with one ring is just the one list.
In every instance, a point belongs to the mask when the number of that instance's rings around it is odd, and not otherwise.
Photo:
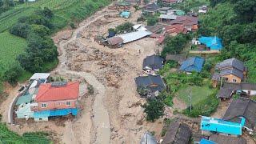
[(135, 31), (127, 34), (120, 34), (118, 37), (123, 39), (123, 43), (133, 42), (140, 38), (144, 38), (148, 35), (152, 34), (150, 31)]

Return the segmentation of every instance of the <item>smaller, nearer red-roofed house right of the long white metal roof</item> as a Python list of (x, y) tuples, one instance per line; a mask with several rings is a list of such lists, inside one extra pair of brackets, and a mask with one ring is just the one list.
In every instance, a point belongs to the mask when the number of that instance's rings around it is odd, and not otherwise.
[(187, 34), (185, 26), (182, 25), (171, 25), (165, 27), (165, 34), (170, 36), (176, 36), (177, 34)]

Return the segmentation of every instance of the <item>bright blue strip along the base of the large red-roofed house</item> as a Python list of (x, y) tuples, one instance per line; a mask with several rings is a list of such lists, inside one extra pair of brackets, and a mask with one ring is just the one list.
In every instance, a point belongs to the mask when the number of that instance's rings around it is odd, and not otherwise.
[(78, 109), (61, 109), (61, 110), (43, 110), (34, 112), (34, 118), (46, 118), (54, 116), (63, 116), (67, 114), (77, 115)]

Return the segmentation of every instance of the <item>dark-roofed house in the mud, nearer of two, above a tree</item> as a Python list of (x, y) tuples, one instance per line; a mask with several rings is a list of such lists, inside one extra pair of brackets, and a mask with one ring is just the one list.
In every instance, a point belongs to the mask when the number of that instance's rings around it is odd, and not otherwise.
[(141, 95), (142, 97), (154, 97), (158, 96), (159, 92), (166, 89), (165, 83), (162, 81), (160, 75), (148, 75), (139, 76), (135, 78), (137, 85), (137, 90), (146, 90), (146, 95)]

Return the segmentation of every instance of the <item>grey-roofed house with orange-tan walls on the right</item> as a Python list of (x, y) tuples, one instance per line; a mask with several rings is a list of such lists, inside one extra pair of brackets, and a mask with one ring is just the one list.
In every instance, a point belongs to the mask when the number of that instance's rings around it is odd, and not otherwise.
[(218, 82), (242, 82), (246, 78), (246, 66), (236, 58), (226, 59), (215, 66), (216, 72), (213, 75), (213, 85), (217, 86)]

